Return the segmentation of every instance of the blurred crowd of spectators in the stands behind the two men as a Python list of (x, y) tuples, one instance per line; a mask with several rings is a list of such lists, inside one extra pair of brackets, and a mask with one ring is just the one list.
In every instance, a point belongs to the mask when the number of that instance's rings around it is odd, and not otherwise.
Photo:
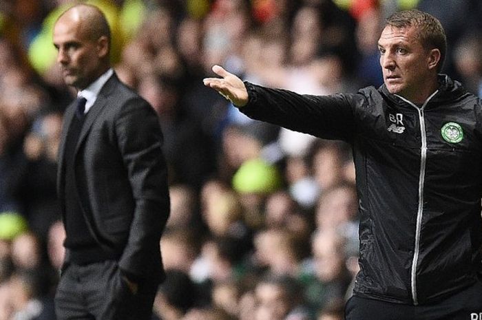
[[(250, 120), (202, 78), (220, 64), (303, 94), (378, 87), (384, 18), (420, 8), (446, 28), (443, 72), (482, 96), (482, 2), (85, 2), (105, 12), (114, 68), (164, 133), (172, 207), (153, 319), (343, 319), (358, 268), (350, 147)], [(0, 320), (55, 319), (56, 158), (75, 93), (55, 64), (52, 25), (72, 3), (0, 2)]]

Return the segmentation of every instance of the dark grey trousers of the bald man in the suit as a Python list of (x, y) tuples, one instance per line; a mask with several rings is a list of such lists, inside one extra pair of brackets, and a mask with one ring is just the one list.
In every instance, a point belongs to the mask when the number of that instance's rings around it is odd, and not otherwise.
[(114, 260), (70, 264), (57, 287), (56, 316), (58, 320), (149, 320), (157, 287), (157, 283), (139, 284), (134, 295)]

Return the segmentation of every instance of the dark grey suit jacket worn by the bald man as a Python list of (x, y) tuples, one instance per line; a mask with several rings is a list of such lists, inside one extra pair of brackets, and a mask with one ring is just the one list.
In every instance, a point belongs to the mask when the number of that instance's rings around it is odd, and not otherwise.
[[(65, 111), (59, 149), (63, 215), (65, 138), (74, 108)], [(154, 281), (164, 277), (159, 241), (169, 216), (162, 140), (154, 109), (114, 73), (86, 114), (74, 158), (76, 191), (92, 235), (106, 252), (120, 257), (125, 273)]]

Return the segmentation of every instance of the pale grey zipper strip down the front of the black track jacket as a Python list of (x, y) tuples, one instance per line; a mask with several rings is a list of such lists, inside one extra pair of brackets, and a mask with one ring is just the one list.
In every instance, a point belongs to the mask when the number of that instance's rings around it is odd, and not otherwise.
[(417, 107), (414, 103), (410, 102), (406, 98), (401, 96), (395, 95), (401, 100), (404, 100), (406, 103), (414, 107), (419, 113), (419, 120), (420, 120), (420, 134), (421, 134), (421, 152), (420, 152), (420, 175), (419, 175), (419, 206), (417, 209), (417, 226), (415, 228), (415, 246), (413, 250), (413, 259), (412, 259), (412, 268), (410, 270), (410, 284), (412, 288), (412, 301), (415, 306), (419, 304), (417, 298), (417, 264), (419, 262), (419, 254), (420, 254), (420, 235), (421, 235), (421, 222), (423, 217), (423, 185), (425, 183), (425, 168), (427, 162), (427, 133), (425, 130), (425, 118), (424, 118), (424, 109), (428, 104), (428, 101), (439, 92), (437, 90), (433, 94), (431, 94), (427, 100), (423, 103), (421, 107)]

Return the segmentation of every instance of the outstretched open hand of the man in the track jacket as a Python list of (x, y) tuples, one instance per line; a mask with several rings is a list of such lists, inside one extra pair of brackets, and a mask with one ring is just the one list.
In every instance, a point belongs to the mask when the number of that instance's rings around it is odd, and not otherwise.
[(236, 107), (243, 107), (248, 103), (246, 86), (238, 76), (227, 72), (220, 65), (214, 65), (213, 72), (221, 78), (205, 78), (203, 83), (206, 87), (215, 89)]

